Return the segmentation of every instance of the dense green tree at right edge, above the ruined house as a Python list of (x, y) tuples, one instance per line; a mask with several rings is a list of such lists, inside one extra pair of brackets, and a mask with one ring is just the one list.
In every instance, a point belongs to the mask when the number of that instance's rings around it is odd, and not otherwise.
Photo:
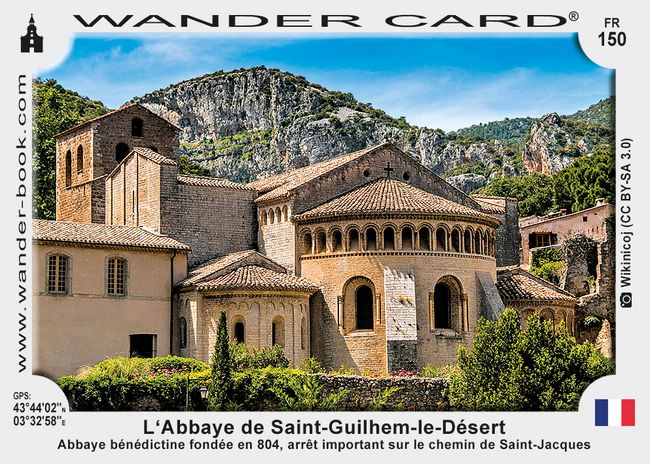
[(593, 155), (578, 158), (555, 175), (555, 201), (560, 208), (569, 212), (580, 211), (595, 206), (598, 198), (614, 202), (614, 157), (604, 148), (594, 151)]

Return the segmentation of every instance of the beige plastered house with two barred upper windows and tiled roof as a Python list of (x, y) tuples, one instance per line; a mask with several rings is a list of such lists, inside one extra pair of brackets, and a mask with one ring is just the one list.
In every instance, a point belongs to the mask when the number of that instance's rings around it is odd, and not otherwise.
[(73, 374), (108, 356), (164, 356), (189, 247), (136, 227), (34, 220), (33, 370)]

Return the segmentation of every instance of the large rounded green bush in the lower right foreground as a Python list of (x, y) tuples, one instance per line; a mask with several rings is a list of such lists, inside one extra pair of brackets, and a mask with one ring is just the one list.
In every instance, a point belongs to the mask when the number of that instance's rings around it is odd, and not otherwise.
[(471, 351), (459, 352), (452, 378), (452, 408), (480, 411), (576, 410), (580, 395), (613, 365), (593, 345), (578, 344), (550, 321), (506, 309), (498, 321), (479, 321)]

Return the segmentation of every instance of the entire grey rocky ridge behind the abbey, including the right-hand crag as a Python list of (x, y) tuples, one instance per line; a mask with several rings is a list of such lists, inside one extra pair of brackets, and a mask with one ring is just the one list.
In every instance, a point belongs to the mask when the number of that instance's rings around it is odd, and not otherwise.
[[(264, 67), (219, 71), (133, 101), (182, 129), (181, 154), (214, 176), (239, 182), (388, 139), (470, 192), (494, 177), (521, 175), (524, 165), (529, 171), (555, 172), (600, 140), (576, 132), (584, 129), (577, 125), (586, 127), (587, 122), (570, 121), (567, 130), (567, 120), (557, 115), (449, 133), (417, 127), (349, 93)], [(530, 134), (522, 144), (521, 133), (528, 124)], [(485, 139), (476, 130), (502, 136)]]

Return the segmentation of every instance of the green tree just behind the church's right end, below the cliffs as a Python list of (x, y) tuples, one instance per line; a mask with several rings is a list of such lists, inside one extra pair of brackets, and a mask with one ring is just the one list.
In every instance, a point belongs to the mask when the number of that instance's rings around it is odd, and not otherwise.
[(553, 178), (543, 174), (499, 177), (477, 193), (519, 200), (519, 216), (544, 215), (555, 206)]

